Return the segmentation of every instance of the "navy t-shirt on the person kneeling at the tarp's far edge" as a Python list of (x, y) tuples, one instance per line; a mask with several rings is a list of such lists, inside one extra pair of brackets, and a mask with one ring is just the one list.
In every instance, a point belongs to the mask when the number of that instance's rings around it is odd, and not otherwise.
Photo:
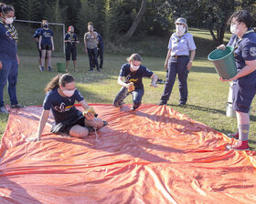
[(119, 76), (124, 76), (125, 83), (130, 83), (133, 82), (134, 87), (136, 88), (141, 88), (144, 87), (143, 85), (143, 77), (151, 77), (153, 75), (153, 72), (149, 70), (145, 66), (140, 66), (137, 71), (132, 72), (130, 69), (130, 64), (126, 63), (121, 67), (120, 70), (120, 75)]

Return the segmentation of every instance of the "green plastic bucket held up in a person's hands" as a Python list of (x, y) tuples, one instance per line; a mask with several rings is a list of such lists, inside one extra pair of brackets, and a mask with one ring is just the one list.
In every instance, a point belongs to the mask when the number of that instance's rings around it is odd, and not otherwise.
[(208, 55), (208, 60), (213, 63), (219, 76), (229, 79), (237, 74), (237, 66), (234, 58), (234, 48), (226, 46), (225, 50), (216, 49)]

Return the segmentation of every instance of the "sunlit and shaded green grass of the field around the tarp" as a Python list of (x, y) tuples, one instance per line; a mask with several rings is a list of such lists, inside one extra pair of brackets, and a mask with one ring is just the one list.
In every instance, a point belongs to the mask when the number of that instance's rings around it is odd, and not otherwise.
[[(208, 127), (216, 129), (222, 133), (229, 133), (236, 130), (236, 119), (226, 117), (226, 102), (229, 93), (229, 83), (219, 81), (219, 76), (208, 61), (207, 55), (211, 51), (208, 46), (203, 46), (210, 42), (210, 36), (206, 31), (192, 31), (197, 37), (196, 60), (188, 76), (188, 101), (186, 107), (177, 107), (179, 92), (177, 81), (173, 93), (168, 101), (169, 106), (174, 107), (178, 112), (186, 114), (198, 122), (206, 124)], [(198, 34), (197, 34), (198, 33)], [(200, 41), (202, 41), (200, 43)], [(161, 45), (165, 46), (166, 45)], [(202, 47), (202, 48), (201, 48)], [(205, 53), (205, 57), (203, 57)], [(20, 53), (20, 66), (17, 85), (17, 97), (21, 104), (32, 106), (42, 105), (44, 99), (43, 89), (57, 72), (39, 72), (37, 68), (37, 56)], [(33, 55), (33, 56), (32, 56)], [(117, 85), (117, 77), (120, 67), (125, 63), (127, 55), (105, 55), (104, 67), (101, 73), (89, 73), (88, 56), (80, 55), (78, 59), (79, 73), (73, 71), (70, 64), (70, 73), (76, 78), (77, 87), (81, 94), (89, 103), (112, 103), (120, 87)], [(157, 76), (165, 79), (164, 62), (165, 55), (162, 57), (144, 56), (143, 65), (152, 69)], [(57, 62), (65, 62), (64, 57), (53, 57), (53, 66)], [(164, 85), (158, 88), (149, 87), (151, 80), (144, 78), (145, 93), (143, 103), (157, 104), (163, 93)], [(131, 97), (125, 99), (125, 103), (131, 104)], [(5, 87), (5, 104), (9, 104)], [(255, 100), (252, 107), (256, 107)], [(0, 115), (0, 136), (5, 131), (7, 117)], [(250, 146), (256, 149), (256, 113), (255, 108), (251, 110), (251, 131)]]

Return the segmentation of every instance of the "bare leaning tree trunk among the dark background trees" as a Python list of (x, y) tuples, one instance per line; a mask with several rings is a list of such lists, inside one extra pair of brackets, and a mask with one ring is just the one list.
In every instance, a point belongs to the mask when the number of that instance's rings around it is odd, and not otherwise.
[(144, 12), (145, 12), (145, 5), (147, 3), (147, 0), (143, 0), (142, 1), (142, 5), (141, 5), (141, 8), (139, 10), (139, 13), (136, 15), (135, 17), (135, 20), (133, 22), (133, 25), (130, 27), (130, 29), (127, 31), (126, 34), (124, 34), (119, 40), (120, 41), (123, 41), (123, 42), (126, 42), (128, 41), (132, 36), (133, 36), (133, 33), (134, 31), (136, 30), (137, 26), (139, 25), (143, 15), (144, 15)]

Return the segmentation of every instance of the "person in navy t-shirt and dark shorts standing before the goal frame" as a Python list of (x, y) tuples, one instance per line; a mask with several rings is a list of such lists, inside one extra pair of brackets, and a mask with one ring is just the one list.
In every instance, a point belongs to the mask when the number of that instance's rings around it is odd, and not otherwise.
[(39, 50), (42, 51), (41, 57), (41, 68), (40, 71), (44, 71), (46, 55), (48, 56), (48, 71), (51, 71), (51, 51), (54, 51), (54, 42), (53, 42), (53, 31), (48, 28), (48, 21), (43, 20), (43, 29), (41, 30), (39, 36)]

